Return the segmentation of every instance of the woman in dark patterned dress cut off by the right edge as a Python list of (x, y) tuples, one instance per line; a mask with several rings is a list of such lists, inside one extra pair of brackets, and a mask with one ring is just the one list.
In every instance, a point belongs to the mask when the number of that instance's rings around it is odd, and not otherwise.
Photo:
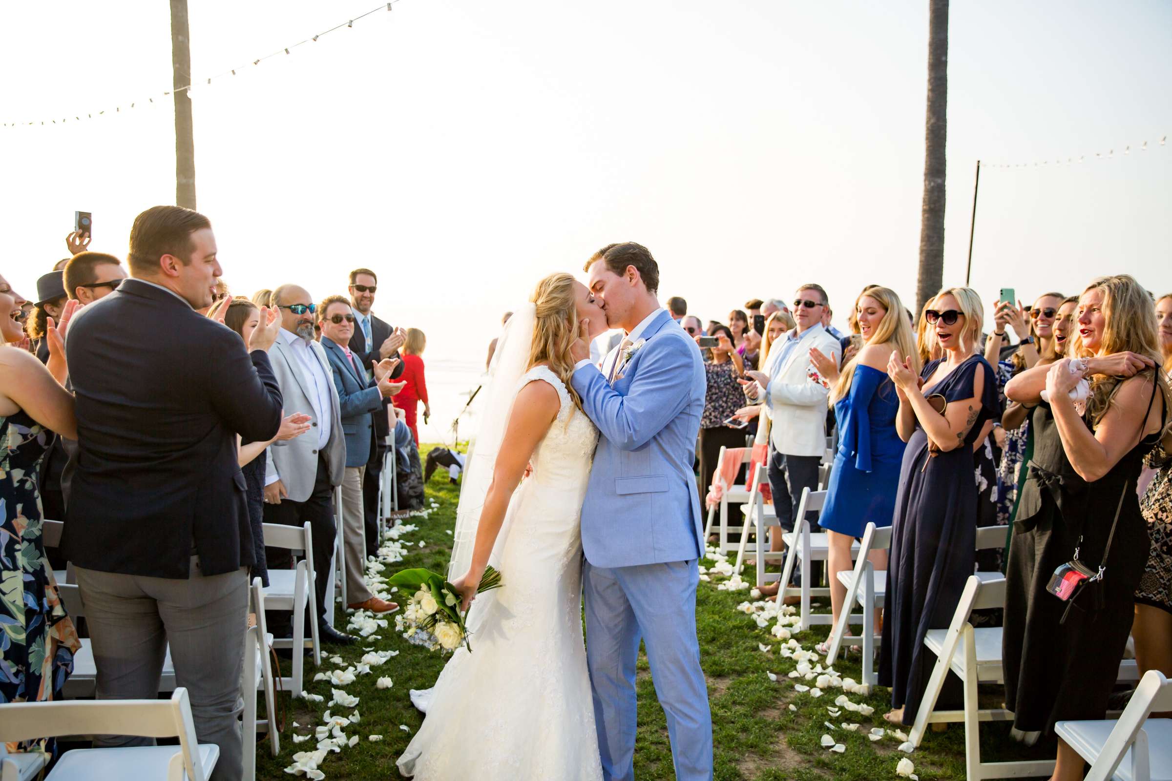
[[(1167, 374), (1172, 370), (1172, 293), (1156, 301), (1156, 327)], [(1131, 636), (1136, 640), (1139, 674), (1159, 670), (1172, 678), (1172, 448), (1156, 446), (1144, 459), (1144, 466), (1149, 482), (1139, 500), (1139, 512), (1147, 522), (1151, 544), (1147, 566), (1136, 589)]]

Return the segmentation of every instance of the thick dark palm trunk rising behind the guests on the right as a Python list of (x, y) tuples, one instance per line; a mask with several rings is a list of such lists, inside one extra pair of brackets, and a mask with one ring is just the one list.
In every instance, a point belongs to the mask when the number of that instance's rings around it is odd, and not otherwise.
[(945, 144), (948, 137), (948, 0), (928, 0), (928, 101), (917, 311), (936, 294), (945, 267)]

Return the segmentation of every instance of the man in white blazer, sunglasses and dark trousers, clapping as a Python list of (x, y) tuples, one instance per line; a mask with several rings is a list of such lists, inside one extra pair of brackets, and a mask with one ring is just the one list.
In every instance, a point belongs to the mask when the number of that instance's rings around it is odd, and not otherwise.
[[(830, 388), (810, 359), (810, 350), (817, 348), (836, 363), (841, 356), (838, 340), (822, 324), (829, 303), (820, 285), (798, 288), (792, 309), (797, 328), (770, 347), (769, 374), (751, 375), (757, 384), (750, 388), (772, 418), (769, 486), (777, 520), (786, 532), (793, 530), (802, 489), (818, 487), (818, 465), (826, 450)], [(817, 521), (811, 519), (811, 530), (817, 530)]]

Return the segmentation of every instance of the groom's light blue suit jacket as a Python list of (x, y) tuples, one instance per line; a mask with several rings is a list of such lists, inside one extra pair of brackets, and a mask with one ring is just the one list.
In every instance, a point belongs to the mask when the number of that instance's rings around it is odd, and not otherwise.
[(708, 385), (700, 349), (666, 310), (640, 338), (625, 366), (616, 357), (613, 386), (593, 365), (573, 375), (601, 431), (581, 513), (582, 550), (594, 567), (687, 561), (703, 552), (691, 468)]

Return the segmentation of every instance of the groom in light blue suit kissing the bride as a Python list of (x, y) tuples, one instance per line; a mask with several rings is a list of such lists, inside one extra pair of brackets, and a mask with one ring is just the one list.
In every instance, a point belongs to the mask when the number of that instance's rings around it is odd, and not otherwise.
[(707, 381), (700, 351), (655, 299), (659, 266), (628, 241), (586, 262), (587, 287), (627, 336), (590, 361), (587, 327), (572, 351), (573, 386), (602, 437), (581, 513), (586, 658), (602, 774), (634, 779), (635, 658), (647, 644), (667, 714), (675, 776), (713, 777), (713, 721), (696, 642), (703, 552), (691, 470)]

